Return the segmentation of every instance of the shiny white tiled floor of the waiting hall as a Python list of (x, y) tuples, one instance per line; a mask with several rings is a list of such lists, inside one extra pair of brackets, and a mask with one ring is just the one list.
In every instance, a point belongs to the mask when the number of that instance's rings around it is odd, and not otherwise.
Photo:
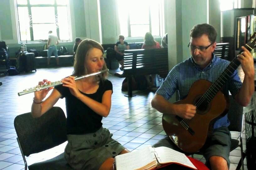
[[(72, 67), (65, 68), (40, 68), (37, 72), (22, 73), (17, 76), (0, 77), (0, 169), (20, 170), (24, 169), (24, 162), (16, 141), (16, 132), (13, 126), (15, 116), (30, 112), (33, 93), (18, 96), (17, 93), (25, 88), (34, 87), (38, 81), (47, 78), (57, 81), (72, 73)], [(163, 138), (165, 132), (162, 127), (162, 113), (151, 107), (153, 92), (135, 92), (136, 97), (126, 98), (121, 92), (123, 78), (114, 77), (114, 72), (109, 76), (113, 84), (112, 107), (107, 118), (103, 119), (103, 127), (113, 133), (113, 138), (123, 144), (130, 151), (141, 149), (147, 145), (156, 143)], [(60, 99), (56, 106), (60, 106), (64, 112), (65, 100)], [(238, 138), (238, 133), (232, 133), (232, 138)], [(243, 135), (245, 138), (245, 135)], [(245, 142), (245, 139), (244, 139)], [(66, 143), (47, 151), (32, 154), (26, 158), (28, 165), (44, 161), (57, 156), (64, 151)], [(230, 153), (230, 169), (236, 168), (240, 160), (240, 148)], [(245, 149), (245, 145), (244, 145)], [(200, 161), (205, 162), (200, 155), (194, 155)], [(244, 161), (246, 164), (246, 161)], [(245, 166), (245, 169), (246, 166)]]

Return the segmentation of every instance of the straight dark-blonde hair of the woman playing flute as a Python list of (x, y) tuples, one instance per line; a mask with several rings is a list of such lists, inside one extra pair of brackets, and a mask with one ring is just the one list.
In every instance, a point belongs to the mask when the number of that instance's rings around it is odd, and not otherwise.
[[(74, 62), (74, 76), (82, 76), (88, 74), (87, 68), (85, 67), (85, 58), (88, 56), (88, 53), (91, 49), (98, 48), (101, 50), (102, 54), (104, 53), (103, 47), (92, 39), (85, 39), (77, 47), (77, 51), (75, 54), (75, 62)], [(104, 62), (103, 70), (107, 69), (106, 63)], [(102, 78), (105, 79), (108, 76), (108, 72), (102, 73)]]

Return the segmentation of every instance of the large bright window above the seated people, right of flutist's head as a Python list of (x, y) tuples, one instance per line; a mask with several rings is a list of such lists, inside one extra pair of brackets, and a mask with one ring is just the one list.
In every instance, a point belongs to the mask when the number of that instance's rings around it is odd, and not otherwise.
[(120, 32), (125, 37), (163, 34), (163, 0), (117, 0)]

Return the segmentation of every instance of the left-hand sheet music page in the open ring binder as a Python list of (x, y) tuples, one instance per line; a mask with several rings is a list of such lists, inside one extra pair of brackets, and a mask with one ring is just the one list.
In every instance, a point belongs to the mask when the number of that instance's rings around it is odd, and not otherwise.
[(142, 150), (125, 153), (115, 157), (117, 170), (132, 170), (146, 166), (149, 163), (157, 160), (155, 154), (151, 152), (151, 147), (146, 147)]

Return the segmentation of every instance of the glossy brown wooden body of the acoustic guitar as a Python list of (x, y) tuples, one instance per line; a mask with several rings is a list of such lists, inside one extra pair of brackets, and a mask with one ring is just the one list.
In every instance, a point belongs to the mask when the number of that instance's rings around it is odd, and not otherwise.
[[(196, 105), (211, 85), (212, 83), (207, 80), (196, 81), (189, 89), (188, 96), (174, 104)], [(218, 91), (207, 106), (197, 107), (195, 117), (190, 120), (173, 114), (163, 114), (164, 131), (181, 150), (195, 153), (205, 144), (214, 120), (227, 113), (227, 105), (225, 96)]]

